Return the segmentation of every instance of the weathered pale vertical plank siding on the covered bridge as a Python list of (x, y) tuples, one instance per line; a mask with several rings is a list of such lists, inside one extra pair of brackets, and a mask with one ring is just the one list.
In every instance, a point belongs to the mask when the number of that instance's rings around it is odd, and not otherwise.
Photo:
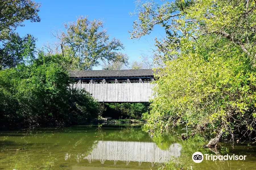
[(151, 83), (71, 84), (85, 89), (99, 102), (148, 102), (153, 98)]

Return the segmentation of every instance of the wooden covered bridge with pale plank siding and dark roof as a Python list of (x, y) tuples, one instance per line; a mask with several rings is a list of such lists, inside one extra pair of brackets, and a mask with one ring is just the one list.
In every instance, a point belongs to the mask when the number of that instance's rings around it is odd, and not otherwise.
[(154, 71), (79, 70), (69, 71), (73, 88), (84, 89), (99, 102), (148, 102), (154, 98)]

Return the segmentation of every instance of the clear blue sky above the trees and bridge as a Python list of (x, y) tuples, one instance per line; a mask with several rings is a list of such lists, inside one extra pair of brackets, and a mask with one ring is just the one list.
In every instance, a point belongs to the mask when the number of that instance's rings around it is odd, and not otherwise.
[(35, 0), (42, 4), (39, 12), (41, 22), (31, 23), (25, 21), (24, 27), (17, 28), (20, 36), (27, 33), (32, 34), (38, 39), (37, 48), (41, 48), (46, 41), (52, 42), (50, 32), (57, 29), (63, 29), (63, 22), (75, 21), (77, 16), (88, 16), (89, 20), (102, 19), (105, 21), (105, 28), (111, 38), (120, 39), (124, 44), (126, 53), (130, 59), (139, 61), (141, 53), (151, 54), (150, 45), (154, 46), (154, 38), (164, 36), (164, 31), (160, 28), (155, 29), (150, 35), (142, 37), (140, 40), (129, 39), (128, 30), (132, 30), (133, 21), (137, 16), (131, 16), (129, 12), (134, 12), (135, 1), (133, 0), (111, 0), (111, 1), (57, 1), (57, 0)]

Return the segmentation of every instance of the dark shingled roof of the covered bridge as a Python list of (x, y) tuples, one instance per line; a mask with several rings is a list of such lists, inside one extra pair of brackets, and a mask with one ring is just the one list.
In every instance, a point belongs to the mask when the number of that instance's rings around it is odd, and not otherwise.
[(71, 78), (80, 77), (153, 77), (152, 69), (135, 69), (135, 70), (77, 70), (69, 71)]

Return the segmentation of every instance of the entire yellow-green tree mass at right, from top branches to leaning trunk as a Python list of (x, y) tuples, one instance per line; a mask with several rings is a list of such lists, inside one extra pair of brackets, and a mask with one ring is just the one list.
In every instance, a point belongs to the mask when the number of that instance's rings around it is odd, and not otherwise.
[(156, 46), (166, 67), (156, 75), (150, 132), (187, 122), (222, 138), (255, 140), (255, 1), (195, 0), (138, 4), (131, 38), (166, 30)]

